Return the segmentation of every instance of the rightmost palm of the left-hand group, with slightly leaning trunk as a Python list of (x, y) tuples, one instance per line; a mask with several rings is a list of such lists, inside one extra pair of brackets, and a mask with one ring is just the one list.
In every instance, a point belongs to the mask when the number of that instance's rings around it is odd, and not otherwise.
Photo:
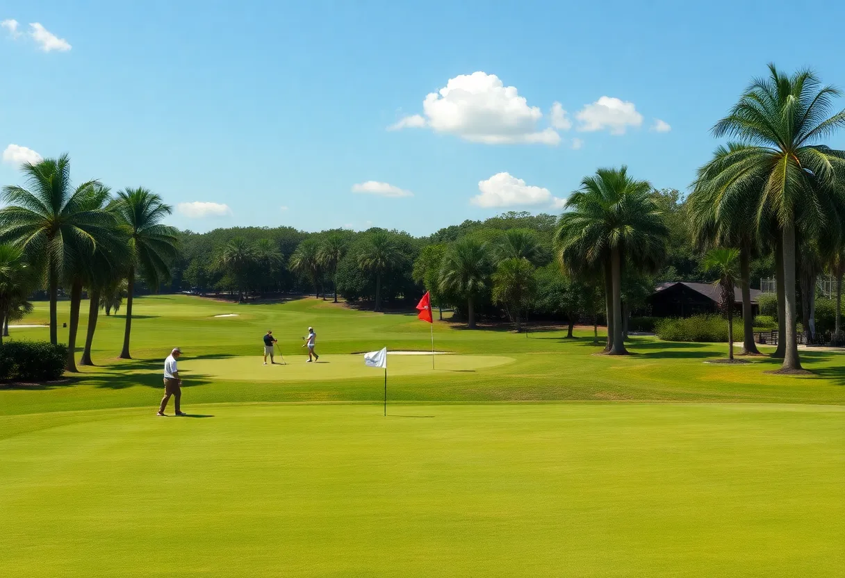
[(122, 359), (129, 355), (129, 337), (132, 333), (132, 301), (135, 275), (140, 271), (147, 285), (154, 290), (171, 276), (172, 259), (177, 254), (177, 230), (162, 225), (172, 209), (161, 202), (161, 197), (146, 188), (126, 188), (117, 193), (112, 204), (123, 226), (126, 227), (131, 252), (126, 289), (126, 329), (123, 332)]

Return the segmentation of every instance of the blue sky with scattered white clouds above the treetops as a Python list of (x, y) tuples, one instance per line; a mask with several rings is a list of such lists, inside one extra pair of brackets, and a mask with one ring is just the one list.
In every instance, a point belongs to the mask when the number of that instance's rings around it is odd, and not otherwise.
[(194, 231), (423, 235), (557, 212), (623, 163), (685, 189), (766, 63), (845, 87), (832, 1), (789, 35), (807, 17), (780, 0), (121, 4), (0, 3), (0, 183), (68, 152)]

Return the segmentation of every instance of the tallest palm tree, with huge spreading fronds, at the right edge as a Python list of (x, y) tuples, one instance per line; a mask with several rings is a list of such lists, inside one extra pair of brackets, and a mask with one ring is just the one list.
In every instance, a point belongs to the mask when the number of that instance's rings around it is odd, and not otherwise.
[(845, 152), (819, 145), (845, 126), (845, 111), (829, 116), (837, 95), (837, 89), (821, 86), (809, 70), (788, 76), (770, 64), (769, 76), (755, 79), (713, 127), (717, 138), (739, 142), (717, 149), (698, 177), (721, 191), (720, 203), (726, 208), (752, 207), (760, 230), (768, 215), (777, 219), (785, 284), (784, 373), (801, 371), (795, 326), (796, 225), (810, 236), (821, 231), (837, 236), (845, 218), (836, 192)]

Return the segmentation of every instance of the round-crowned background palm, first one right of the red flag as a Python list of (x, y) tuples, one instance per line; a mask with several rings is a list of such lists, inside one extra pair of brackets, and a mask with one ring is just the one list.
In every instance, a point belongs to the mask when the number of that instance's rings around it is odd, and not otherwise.
[(475, 304), (487, 291), (490, 281), (490, 254), (487, 243), (464, 237), (444, 254), (440, 265), (440, 292), (466, 299), (466, 326), (476, 328)]

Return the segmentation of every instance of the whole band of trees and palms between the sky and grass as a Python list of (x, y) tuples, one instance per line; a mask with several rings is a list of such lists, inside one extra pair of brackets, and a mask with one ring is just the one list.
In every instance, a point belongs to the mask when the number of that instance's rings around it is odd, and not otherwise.
[[(815, 279), (837, 277), (835, 335), (845, 268), (845, 153), (825, 144), (845, 124), (831, 114), (839, 93), (809, 71), (770, 66), (713, 128), (717, 147), (688, 196), (655, 190), (627, 167), (581, 181), (559, 216), (509, 212), (464, 221), (428, 237), (372, 228), (303, 232), (235, 227), (179, 232), (162, 221), (170, 207), (144, 188), (112, 194), (69, 182), (67, 156), (25, 165), (27, 188), (5, 187), (0, 210), (0, 315), (21, 315), (35, 288), (50, 299), (57, 338), (59, 288), (71, 302), (68, 369), (83, 292), (90, 298), (80, 363), (90, 363), (96, 317), (126, 298), (121, 357), (129, 357), (132, 299), (161, 290), (229, 292), (244, 302), (272, 293), (312, 292), (381, 311), (429, 291), (470, 328), (506, 317), (608, 324), (606, 352), (626, 353), (631, 314), (660, 281), (717, 281), (726, 314), (739, 282), (744, 354), (753, 340), (750, 288), (777, 279), (782, 369), (799, 371), (797, 321), (814, 339)], [(796, 299), (800, 297), (800, 302)], [(7, 321), (8, 323), (8, 321)]]

